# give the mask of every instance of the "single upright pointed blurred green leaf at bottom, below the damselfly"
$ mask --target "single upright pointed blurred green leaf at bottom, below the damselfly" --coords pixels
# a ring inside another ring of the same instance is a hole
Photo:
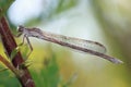
[[[47,61],[47,60],[46,60]],[[59,84],[59,67],[56,61],[55,54],[46,64],[46,69],[41,71],[43,77],[45,78],[44,87],[58,87]]]

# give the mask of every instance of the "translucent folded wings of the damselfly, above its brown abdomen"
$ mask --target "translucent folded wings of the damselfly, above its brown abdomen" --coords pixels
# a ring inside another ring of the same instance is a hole
[[[69,46],[75,46],[81,49],[88,49],[96,52],[106,53],[105,46],[96,41],[84,40],[84,39],[67,37],[63,35],[56,35],[56,34],[49,34],[49,33],[44,33],[43,35],[45,36],[44,39],[47,39],[47,40],[51,39],[53,40],[53,42],[62,42],[63,44],[62,46],[66,46],[66,47],[68,47],[69,45]],[[72,48],[72,49],[75,49],[75,48]],[[75,50],[82,51],[81,49],[75,49]]]

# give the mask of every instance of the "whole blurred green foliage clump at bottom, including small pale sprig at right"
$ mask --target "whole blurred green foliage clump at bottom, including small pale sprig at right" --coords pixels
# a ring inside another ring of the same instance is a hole
[[[31,65],[31,73],[36,87],[69,87],[76,79],[76,74],[73,74],[68,80],[62,78],[57,58],[53,53],[52,57],[44,59],[43,70],[37,69],[37,66],[33,67]]]

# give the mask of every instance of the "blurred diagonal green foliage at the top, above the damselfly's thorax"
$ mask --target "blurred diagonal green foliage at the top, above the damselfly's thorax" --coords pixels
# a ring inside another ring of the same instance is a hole
[[[45,3],[44,3],[45,4]],[[53,5],[56,4],[56,5]],[[43,10],[38,17],[32,17],[28,20],[25,25],[34,26],[40,24],[43,21],[48,23],[52,21],[56,16],[60,15],[61,13],[71,10],[75,5],[79,4],[79,0],[57,0],[55,3],[53,1],[50,3],[50,8],[47,10]],[[45,5],[44,5],[45,8]]]

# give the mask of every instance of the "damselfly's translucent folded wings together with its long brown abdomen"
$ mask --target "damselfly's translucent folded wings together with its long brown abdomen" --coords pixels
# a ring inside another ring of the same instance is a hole
[[[102,44],[96,41],[67,37],[63,35],[56,35],[56,34],[46,33],[46,32],[43,32],[43,37],[40,38],[55,44],[59,44],[64,47],[69,47],[69,48],[82,51],[82,52],[86,52],[93,55],[104,58],[114,63],[122,63],[122,61],[105,54],[106,48]]]

